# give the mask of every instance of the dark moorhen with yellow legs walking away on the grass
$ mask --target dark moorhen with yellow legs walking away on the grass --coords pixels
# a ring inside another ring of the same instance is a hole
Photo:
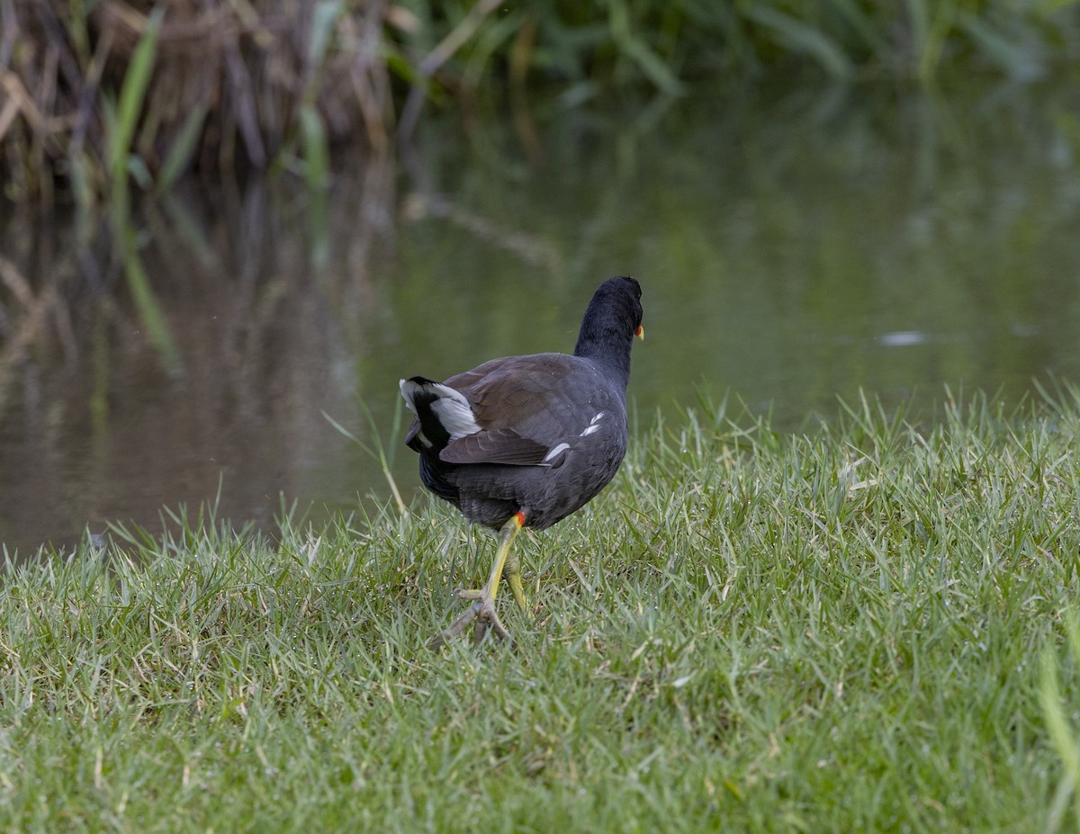
[[[523,527],[542,530],[581,509],[615,477],[626,454],[626,386],[635,337],[644,339],[642,287],[629,275],[599,285],[585,308],[573,354],[492,359],[442,382],[399,384],[414,414],[405,444],[420,455],[420,481],[473,524],[497,530],[487,583],[457,589],[473,603],[429,646],[475,621],[511,641],[496,611],[505,570],[523,613],[521,562],[511,552]]]

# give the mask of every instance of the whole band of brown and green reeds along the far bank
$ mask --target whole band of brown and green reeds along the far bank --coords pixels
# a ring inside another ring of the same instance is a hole
[[[82,205],[193,167],[319,187],[330,146],[382,150],[424,102],[482,92],[576,107],[770,68],[932,84],[1080,56],[1077,0],[0,0],[0,23],[5,194],[49,202],[58,184]]]

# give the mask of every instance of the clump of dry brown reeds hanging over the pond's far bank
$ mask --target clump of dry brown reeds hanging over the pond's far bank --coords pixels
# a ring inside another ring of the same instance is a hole
[[[109,181],[106,96],[119,94],[154,5],[0,0],[0,169],[10,170],[10,196],[42,196],[48,180],[72,166],[90,165],[91,183]],[[127,149],[149,172],[183,140],[190,113],[203,110],[190,160],[203,170],[266,167],[293,152],[307,104],[329,142],[384,145],[392,106],[381,1],[348,6],[319,55],[309,54],[314,3],[174,0],[163,8]]]

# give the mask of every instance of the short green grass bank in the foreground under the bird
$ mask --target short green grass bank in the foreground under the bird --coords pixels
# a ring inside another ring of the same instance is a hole
[[[1078,434],[705,403],[524,538],[515,648],[424,648],[492,552],[427,501],[13,566],[0,829],[1075,830]]]

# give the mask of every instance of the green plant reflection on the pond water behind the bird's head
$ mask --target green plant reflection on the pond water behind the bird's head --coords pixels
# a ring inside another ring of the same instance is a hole
[[[1055,127],[1075,105],[1059,93],[697,99],[629,151],[617,122],[572,120],[543,134],[539,171],[459,151],[459,204],[551,254],[525,264],[444,218],[404,228],[400,349],[437,376],[565,348],[596,281],[632,272],[648,407],[698,382],[788,425],[860,387],[1018,395],[1077,369],[1080,145]]]

